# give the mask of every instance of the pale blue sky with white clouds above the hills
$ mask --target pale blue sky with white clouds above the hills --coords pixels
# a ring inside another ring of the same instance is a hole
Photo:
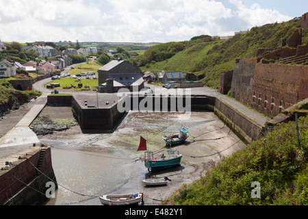
[[[179,42],[307,12],[307,0],[0,0],[0,40]]]

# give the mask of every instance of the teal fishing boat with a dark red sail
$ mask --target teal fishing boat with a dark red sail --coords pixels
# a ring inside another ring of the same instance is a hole
[[[146,140],[140,136],[138,151],[146,150]],[[183,155],[179,154],[179,151],[167,150],[166,152],[166,155],[162,154],[158,158],[154,157],[153,151],[144,152],[144,157],[141,157],[141,159],[144,161],[144,166],[148,168],[149,172],[181,166],[181,158]]]

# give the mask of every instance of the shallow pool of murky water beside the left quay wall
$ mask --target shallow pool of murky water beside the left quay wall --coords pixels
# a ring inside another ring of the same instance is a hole
[[[101,205],[98,196],[116,192],[136,170],[136,162],[123,152],[98,153],[67,142],[47,143],[53,145],[51,157],[58,190],[46,205]]]

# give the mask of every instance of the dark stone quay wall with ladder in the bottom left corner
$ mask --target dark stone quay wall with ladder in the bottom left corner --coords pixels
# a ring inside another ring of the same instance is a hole
[[[41,149],[46,149],[46,151],[40,171],[47,177],[38,172],[40,175],[38,179],[34,166],[38,166]],[[42,148],[40,145],[29,146],[28,148],[18,150],[10,155],[2,157],[1,161],[8,161],[13,164],[9,170],[0,170],[1,205],[10,205],[10,203],[13,205],[35,205],[42,203],[42,201],[46,199],[46,196],[42,194],[47,190],[47,187],[45,187],[47,181],[51,181],[51,179],[56,181],[51,162],[51,149],[49,146],[44,146]],[[40,181],[39,183],[38,180]],[[27,187],[25,183],[31,186],[31,188]],[[42,192],[42,194],[36,190]],[[8,198],[12,199],[9,200]]]

